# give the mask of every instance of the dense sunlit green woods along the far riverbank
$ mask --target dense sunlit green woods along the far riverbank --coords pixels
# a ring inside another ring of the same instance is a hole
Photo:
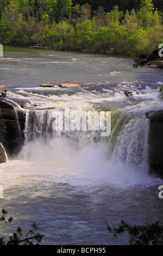
[[[161,0],[0,0],[0,42],[148,58],[163,42]]]

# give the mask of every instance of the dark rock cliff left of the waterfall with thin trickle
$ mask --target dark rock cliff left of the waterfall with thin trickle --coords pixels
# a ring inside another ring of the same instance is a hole
[[[25,122],[25,112],[7,100],[0,101],[0,143],[9,157],[16,155],[22,147]]]

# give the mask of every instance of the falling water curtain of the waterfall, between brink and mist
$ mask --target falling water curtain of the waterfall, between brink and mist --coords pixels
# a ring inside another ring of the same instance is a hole
[[[53,112],[51,110],[27,110],[25,138],[26,143],[37,139],[66,137],[76,141],[79,148],[101,142],[108,144],[108,158],[123,162],[127,166],[148,173],[148,120],[140,112],[115,111],[112,114],[112,132],[110,137],[101,137],[96,131],[53,130]]]

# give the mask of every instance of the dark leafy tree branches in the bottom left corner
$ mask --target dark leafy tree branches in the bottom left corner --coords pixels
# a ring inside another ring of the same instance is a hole
[[[0,217],[1,225],[12,222],[13,218],[7,218],[7,214],[8,212],[5,209],[2,209],[2,215]],[[32,224],[31,229],[23,237],[22,229],[18,227],[12,235],[9,235],[7,241],[1,236],[0,245],[39,245],[43,235],[37,232],[38,229],[39,228],[35,223]]]

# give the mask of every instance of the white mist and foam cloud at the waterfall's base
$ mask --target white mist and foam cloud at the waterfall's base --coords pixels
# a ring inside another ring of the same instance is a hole
[[[127,189],[160,184],[161,181],[154,176],[109,159],[107,152],[106,144],[90,144],[79,149],[76,143],[65,138],[55,138],[48,143],[30,142],[23,148],[20,160],[2,165],[2,185],[27,186],[32,182],[35,190],[37,182],[47,186],[48,182],[61,182],[91,190],[101,185]]]

